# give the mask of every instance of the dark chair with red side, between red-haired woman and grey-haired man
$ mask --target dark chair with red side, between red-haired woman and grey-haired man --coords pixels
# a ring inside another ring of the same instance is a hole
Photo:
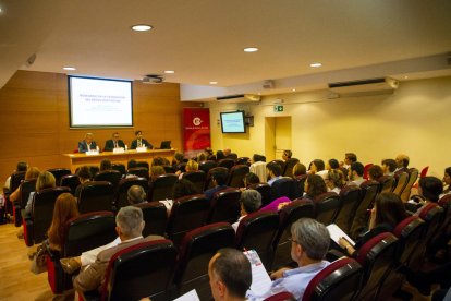
[[[60,258],[80,256],[83,252],[110,243],[118,237],[114,228],[111,212],[88,213],[66,221],[61,251],[49,250],[47,260],[47,278],[53,293],[72,288],[72,275],[63,272]]]

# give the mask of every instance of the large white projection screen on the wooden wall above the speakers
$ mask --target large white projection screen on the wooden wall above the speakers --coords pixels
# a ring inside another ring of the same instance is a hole
[[[69,76],[71,128],[133,127],[133,83],[126,80]]]

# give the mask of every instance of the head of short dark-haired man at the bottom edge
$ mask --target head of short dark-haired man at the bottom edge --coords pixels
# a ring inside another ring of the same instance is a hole
[[[239,250],[221,249],[208,263],[208,277],[215,301],[246,300],[252,284],[251,263]]]

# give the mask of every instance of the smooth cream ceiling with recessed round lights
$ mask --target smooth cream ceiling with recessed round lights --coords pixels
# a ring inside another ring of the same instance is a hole
[[[174,70],[167,82],[197,89],[217,81],[203,96],[257,93],[264,80],[300,91],[451,74],[443,57],[442,65],[430,59],[451,51],[450,0],[0,0],[0,87],[17,69],[65,65],[135,80]],[[131,31],[139,23],[154,29]],[[260,50],[243,52],[249,46]],[[324,65],[309,67],[317,61]]]

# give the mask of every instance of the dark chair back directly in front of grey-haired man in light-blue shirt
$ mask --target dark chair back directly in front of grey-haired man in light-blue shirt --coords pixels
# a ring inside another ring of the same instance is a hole
[[[291,258],[291,225],[302,217],[315,217],[315,206],[310,200],[298,198],[279,210],[279,229],[272,242],[272,270],[288,266]]]

